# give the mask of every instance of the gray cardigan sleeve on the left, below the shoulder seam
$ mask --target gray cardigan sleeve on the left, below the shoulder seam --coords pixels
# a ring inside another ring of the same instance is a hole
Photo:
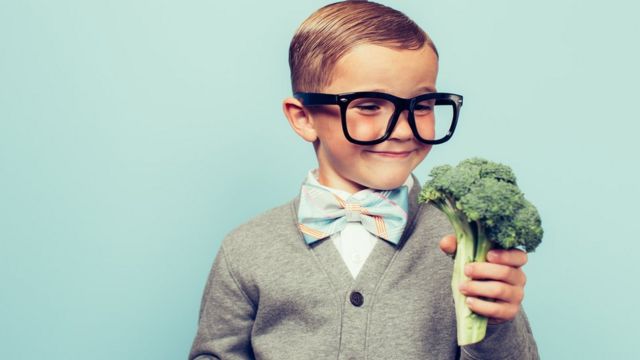
[[[202,295],[198,331],[189,360],[253,359],[256,307],[236,280],[220,247]]]

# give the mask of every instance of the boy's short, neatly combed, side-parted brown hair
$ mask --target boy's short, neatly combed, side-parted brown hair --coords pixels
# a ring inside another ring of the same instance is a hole
[[[342,1],[311,14],[289,45],[293,92],[328,86],[340,58],[361,44],[417,50],[424,44],[438,55],[426,32],[404,13],[371,1]]]

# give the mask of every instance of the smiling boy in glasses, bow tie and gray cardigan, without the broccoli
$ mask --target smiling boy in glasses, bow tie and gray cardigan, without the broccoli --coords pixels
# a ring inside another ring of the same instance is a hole
[[[457,346],[452,263],[437,251],[455,238],[417,204],[411,172],[451,136],[462,97],[436,92],[426,33],[380,4],[330,4],[297,30],[289,63],[283,110],[318,168],[291,203],[225,238],[189,358],[538,358],[517,250],[466,269],[460,291],[490,325]]]

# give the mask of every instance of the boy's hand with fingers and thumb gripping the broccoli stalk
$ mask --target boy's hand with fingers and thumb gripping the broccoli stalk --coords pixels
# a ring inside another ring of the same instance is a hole
[[[440,240],[440,249],[447,254],[455,253],[456,237],[445,236]],[[467,296],[467,306],[488,317],[490,324],[515,318],[524,298],[527,280],[521,267],[526,263],[527,253],[522,250],[495,249],[487,254],[486,263],[467,264],[464,272],[471,280],[460,284],[460,292]]]

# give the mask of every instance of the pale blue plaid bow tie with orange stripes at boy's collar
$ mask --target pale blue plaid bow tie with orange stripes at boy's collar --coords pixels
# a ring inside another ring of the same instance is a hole
[[[365,189],[343,200],[307,181],[300,192],[298,226],[307,244],[341,231],[348,222],[360,222],[373,235],[397,245],[407,223],[408,198],[407,187],[401,186]]]

